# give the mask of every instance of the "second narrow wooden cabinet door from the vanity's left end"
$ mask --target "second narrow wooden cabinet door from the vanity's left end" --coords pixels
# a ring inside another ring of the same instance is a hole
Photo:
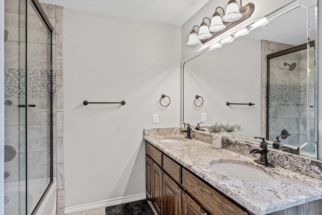
[[[152,165],[152,199],[153,205],[158,212],[162,214],[162,169],[155,163]]]

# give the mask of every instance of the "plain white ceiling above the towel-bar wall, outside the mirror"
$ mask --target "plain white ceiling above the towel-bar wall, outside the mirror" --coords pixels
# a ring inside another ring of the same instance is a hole
[[[182,26],[209,0],[40,0],[64,8]]]

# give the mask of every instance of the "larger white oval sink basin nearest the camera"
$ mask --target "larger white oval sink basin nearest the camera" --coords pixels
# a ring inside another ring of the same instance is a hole
[[[238,164],[223,160],[212,161],[209,166],[218,173],[243,181],[265,182],[274,180],[268,173],[251,167],[252,164],[245,162],[245,165],[243,165],[243,163],[240,164],[240,161],[237,162]]]

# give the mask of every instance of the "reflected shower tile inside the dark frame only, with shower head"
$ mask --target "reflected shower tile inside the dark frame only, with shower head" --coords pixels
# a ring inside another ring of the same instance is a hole
[[[306,67],[306,60],[302,61],[300,56],[299,51],[285,54],[270,59],[269,64],[269,140],[274,141],[285,129],[291,135],[286,139],[280,137],[281,142],[297,147],[300,142],[300,130],[306,128],[306,118],[300,118],[306,116],[306,85],[300,85],[303,81],[306,84],[306,76],[304,74],[303,77],[300,71],[303,64],[304,68]],[[295,69],[290,71],[288,65],[284,66],[284,62],[296,63]]]

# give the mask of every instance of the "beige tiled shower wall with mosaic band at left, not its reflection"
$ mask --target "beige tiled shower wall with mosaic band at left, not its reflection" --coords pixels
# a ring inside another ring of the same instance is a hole
[[[24,55],[20,53],[24,52],[25,49],[25,39],[23,34],[19,34],[19,27],[24,25],[24,15],[25,14],[22,4],[19,3],[18,0],[5,0],[5,26],[6,30],[10,33],[8,40],[5,42],[5,101],[7,102],[5,108],[5,145],[13,146],[16,151],[16,157],[10,161],[5,163],[6,171],[10,172],[10,176],[5,180],[5,182],[24,180],[25,169],[21,168],[25,166],[25,149],[24,145],[18,145],[19,142],[24,142],[24,132],[25,126],[19,126],[19,120],[24,121],[21,117],[23,114],[19,115],[19,109],[17,105],[19,104],[19,99],[24,99],[19,97],[20,93],[24,94],[24,92],[19,92],[17,86],[19,83],[23,83],[24,80],[21,78],[24,77],[25,70],[25,61]],[[42,4],[43,9],[45,10],[51,24],[54,27],[53,32],[53,174],[57,179],[57,214],[64,214],[64,173],[63,173],[63,80],[62,80],[62,16],[63,16],[63,8],[53,5]],[[29,14],[28,14],[29,15]],[[32,17],[29,19],[32,19]],[[38,18],[37,18],[38,19]],[[28,38],[37,39],[37,35],[33,34],[33,32],[29,32]],[[37,43],[37,41],[32,41],[33,48],[31,52],[28,54],[37,55],[39,51],[42,50],[41,44]],[[30,47],[30,46],[29,46]],[[29,49],[30,50],[30,49]],[[20,54],[20,58],[17,58]],[[36,57],[37,58],[37,57]],[[38,62],[35,62],[35,65]],[[29,62],[30,66],[33,66],[33,62]],[[30,103],[36,104],[36,108],[41,108],[42,114],[47,114],[47,95],[43,95],[43,92],[47,91],[46,86],[37,85],[38,81],[43,81],[43,79],[47,79],[47,71],[43,68],[33,67],[35,69],[28,71],[30,79],[29,85],[33,86],[32,91],[29,92]],[[31,81],[32,80],[32,81]],[[21,88],[23,89],[23,88]],[[10,103],[11,102],[11,103]],[[30,125],[30,133],[29,136],[32,138],[35,135],[38,135],[43,129],[47,129],[47,126],[42,126],[41,121],[39,121],[39,117],[32,117],[33,110],[30,109],[29,117],[32,122]],[[38,110],[39,111],[39,110]],[[20,116],[20,118],[19,118]],[[46,118],[46,117],[44,117]],[[34,133],[32,133],[34,132]],[[46,132],[46,131],[45,131]],[[19,136],[17,134],[20,134]],[[44,140],[47,139],[43,138]],[[32,139],[30,139],[32,141]],[[38,160],[36,162],[42,162],[44,165],[42,168],[47,169],[45,167],[47,165],[47,155],[42,155],[41,152],[46,153],[47,146],[42,150],[40,149],[42,145],[41,142],[34,144],[28,148],[28,152],[32,151],[34,153],[33,156],[38,156]],[[46,153],[47,154],[47,153]],[[44,159],[42,159],[44,158]],[[20,162],[19,162],[20,161]],[[28,164],[28,166],[32,166],[32,164]],[[36,165],[35,165],[36,166]],[[39,166],[39,165],[37,165]],[[19,167],[19,168],[17,168]],[[34,169],[32,171],[28,170],[29,178],[42,178],[47,177],[47,175],[43,175],[44,171],[40,169]]]

